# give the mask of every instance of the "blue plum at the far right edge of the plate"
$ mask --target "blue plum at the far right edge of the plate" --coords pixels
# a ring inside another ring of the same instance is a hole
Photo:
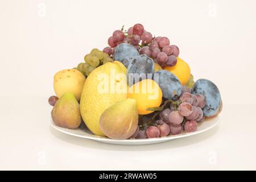
[[[203,107],[205,117],[212,117],[218,113],[221,106],[220,90],[210,80],[199,79],[192,88],[192,94],[202,94],[205,97],[206,104]]]

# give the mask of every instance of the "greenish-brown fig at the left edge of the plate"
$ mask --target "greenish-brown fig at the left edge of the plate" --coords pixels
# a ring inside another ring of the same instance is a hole
[[[51,114],[55,125],[67,129],[76,129],[82,121],[79,102],[71,92],[67,92],[60,97]]]

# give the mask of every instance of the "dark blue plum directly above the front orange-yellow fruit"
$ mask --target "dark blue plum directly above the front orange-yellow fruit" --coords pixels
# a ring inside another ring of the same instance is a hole
[[[154,61],[147,55],[139,55],[131,61],[127,68],[127,81],[129,86],[146,78],[152,79],[155,71]]]

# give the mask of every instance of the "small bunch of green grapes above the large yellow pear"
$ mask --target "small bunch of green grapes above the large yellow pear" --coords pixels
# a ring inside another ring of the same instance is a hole
[[[89,74],[100,65],[114,61],[109,57],[108,53],[100,51],[97,48],[92,49],[88,55],[85,55],[84,60],[85,63],[80,63],[75,69],[85,76],[89,76]]]

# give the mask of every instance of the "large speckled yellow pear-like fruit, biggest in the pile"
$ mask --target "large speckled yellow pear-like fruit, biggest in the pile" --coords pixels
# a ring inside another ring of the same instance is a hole
[[[93,134],[105,136],[100,129],[101,114],[127,97],[126,68],[119,61],[97,67],[86,78],[80,100],[85,125]]]

